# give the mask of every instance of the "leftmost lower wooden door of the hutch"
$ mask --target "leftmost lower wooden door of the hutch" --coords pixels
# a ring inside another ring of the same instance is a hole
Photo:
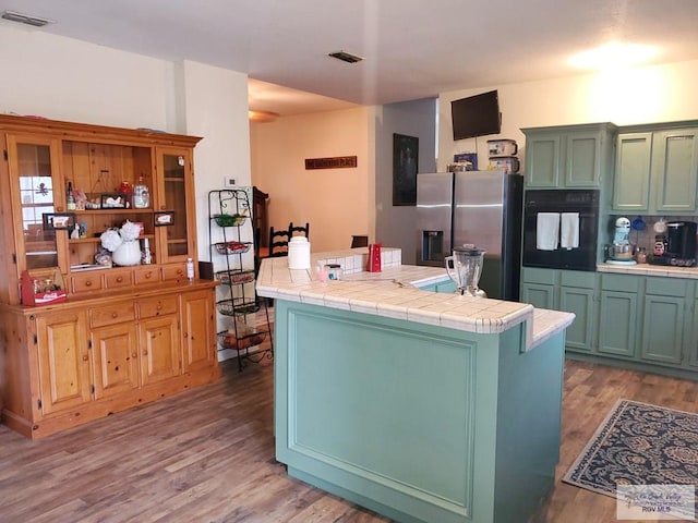
[[[35,321],[44,414],[74,409],[91,401],[85,313],[37,314]]]

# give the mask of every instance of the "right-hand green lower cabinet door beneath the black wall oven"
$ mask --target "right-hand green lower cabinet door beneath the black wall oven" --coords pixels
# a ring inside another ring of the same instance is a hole
[[[594,349],[597,332],[597,306],[593,289],[562,287],[559,309],[575,314],[575,320],[567,328],[565,348],[580,352]]]

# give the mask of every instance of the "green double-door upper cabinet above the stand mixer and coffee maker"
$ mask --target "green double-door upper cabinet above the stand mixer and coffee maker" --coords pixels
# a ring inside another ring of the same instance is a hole
[[[695,122],[693,122],[695,123]],[[617,138],[613,210],[695,212],[698,126],[623,132]]]

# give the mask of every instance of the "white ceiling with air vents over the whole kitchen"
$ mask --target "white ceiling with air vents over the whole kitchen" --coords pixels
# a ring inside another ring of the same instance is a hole
[[[655,63],[698,59],[698,0],[0,0],[4,10],[56,21],[33,31],[248,73],[260,81],[251,108],[281,114],[567,76],[579,72],[571,54],[611,41],[658,46]],[[327,57],[338,50],[365,60]]]

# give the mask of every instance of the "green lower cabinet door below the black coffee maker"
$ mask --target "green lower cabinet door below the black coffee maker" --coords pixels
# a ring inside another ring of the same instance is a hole
[[[678,365],[684,344],[685,299],[645,296],[640,360]]]

